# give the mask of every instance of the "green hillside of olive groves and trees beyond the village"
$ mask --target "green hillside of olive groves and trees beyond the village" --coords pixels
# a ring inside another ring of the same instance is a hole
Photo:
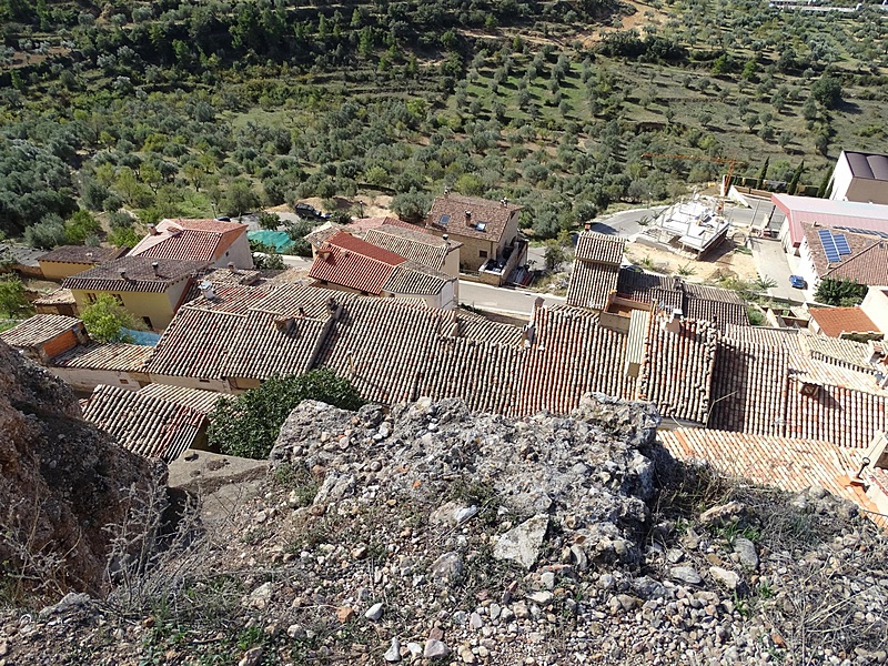
[[[885,12],[749,0],[297,3],[6,0],[2,231],[78,205],[99,238],[160,216],[445,185],[529,204],[537,236],[738,176],[815,193],[888,150]],[[627,29],[628,28],[628,29]],[[700,37],[704,36],[704,37]],[[14,174],[14,176],[13,176]],[[82,235],[82,234],[81,234]]]

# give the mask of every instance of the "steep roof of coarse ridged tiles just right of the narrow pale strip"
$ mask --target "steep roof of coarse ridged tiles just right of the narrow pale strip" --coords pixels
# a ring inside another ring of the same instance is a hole
[[[656,404],[664,418],[705,424],[718,330],[705,321],[668,320],[650,316],[637,398]]]

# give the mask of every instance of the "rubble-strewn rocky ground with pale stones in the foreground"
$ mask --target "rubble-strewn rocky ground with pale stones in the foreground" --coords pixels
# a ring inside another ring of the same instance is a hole
[[[657,423],[303,403],[225,522],[107,599],[7,613],[0,666],[885,663],[875,526],[678,465]]]

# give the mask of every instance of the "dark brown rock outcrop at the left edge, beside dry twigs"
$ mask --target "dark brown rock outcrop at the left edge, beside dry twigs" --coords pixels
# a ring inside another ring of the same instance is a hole
[[[70,387],[0,342],[0,575],[19,592],[101,592],[107,526],[158,477],[80,418]]]

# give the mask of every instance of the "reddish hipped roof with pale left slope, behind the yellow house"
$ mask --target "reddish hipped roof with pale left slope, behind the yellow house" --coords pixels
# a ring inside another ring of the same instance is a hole
[[[131,256],[212,263],[246,233],[246,224],[221,220],[162,220],[139,241]]]

